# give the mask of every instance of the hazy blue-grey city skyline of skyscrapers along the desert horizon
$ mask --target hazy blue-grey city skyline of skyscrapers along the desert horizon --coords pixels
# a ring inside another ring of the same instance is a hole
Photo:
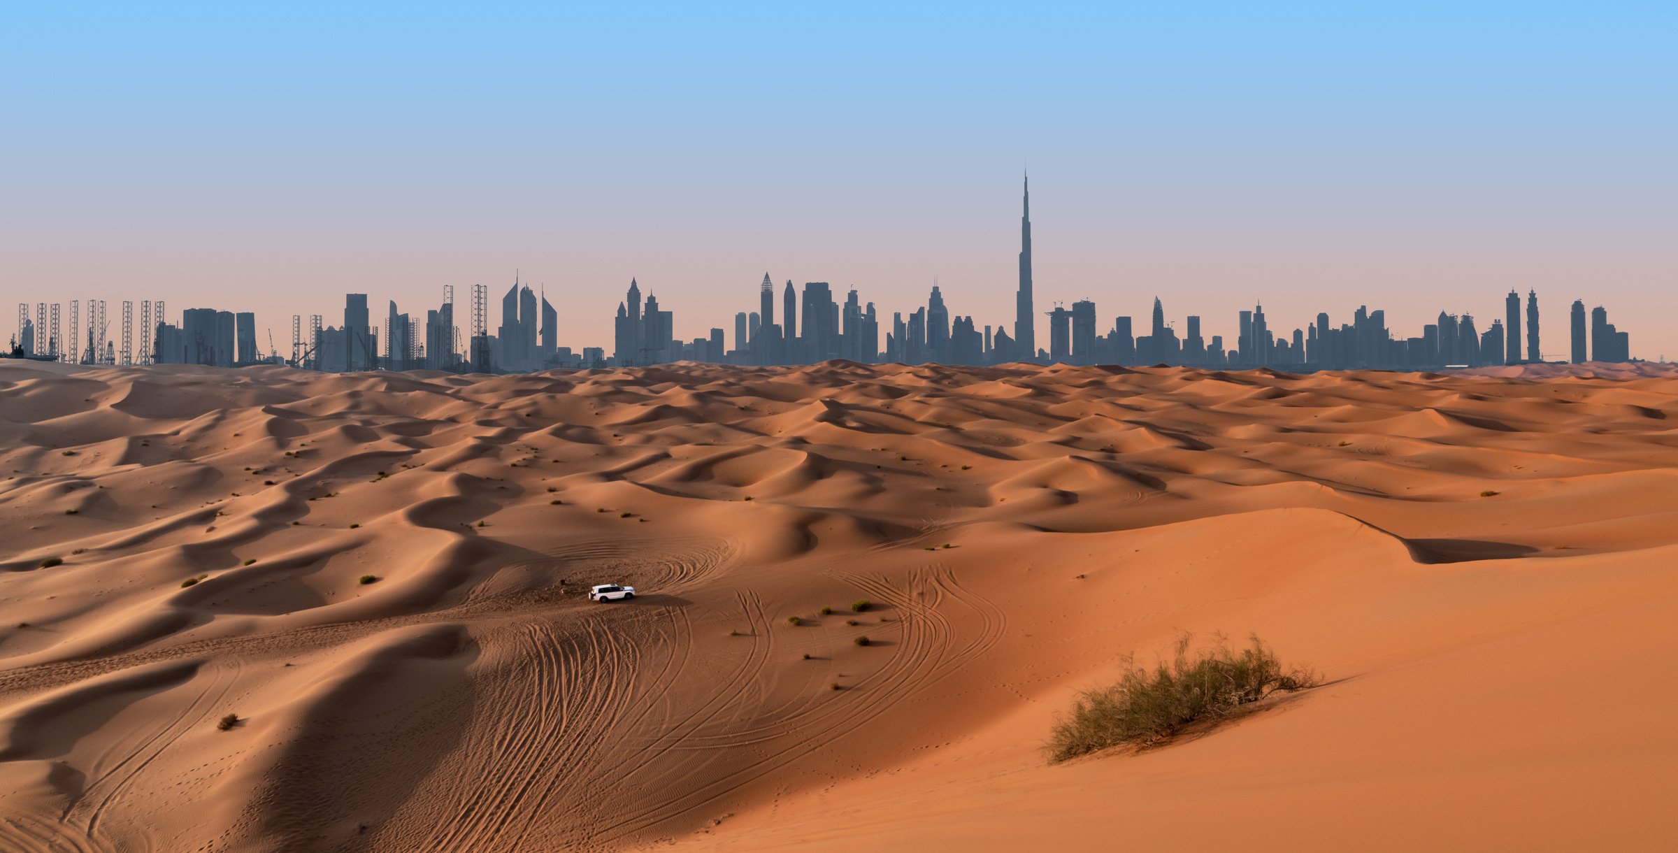
[[[322,326],[320,314],[292,316],[290,351],[280,353],[268,332],[268,351],[257,341],[255,314],[195,307],[171,322],[163,301],[139,302],[134,346],[134,302],[122,302],[117,334],[112,336],[104,301],[70,301],[69,326],[62,326],[59,302],[18,306],[12,353],[37,359],[82,364],[292,364],[317,371],[438,369],[480,373],[522,373],[554,368],[648,366],[671,361],[727,364],[810,364],[827,359],[859,363],[948,363],[1000,364],[1008,361],[1067,364],[1185,364],[1203,368],[1287,368],[1287,369],[1441,369],[1453,366],[1520,364],[1561,361],[1545,354],[1539,338],[1539,296],[1510,290],[1503,316],[1480,327],[1472,314],[1441,311],[1421,334],[1398,338],[1384,311],[1359,306],[1351,322],[1332,322],[1327,312],[1305,327],[1272,331],[1264,306],[1240,311],[1237,334],[1206,338],[1201,317],[1185,317],[1178,332],[1166,319],[1165,304],[1153,301],[1146,329],[1128,316],[1102,322],[1096,302],[1081,299],[1071,307],[1055,302],[1049,317],[1049,348],[1037,346],[1035,289],[1032,280],[1030,183],[1024,185],[1020,212],[1019,289],[1012,332],[1003,326],[980,326],[973,316],[951,314],[943,287],[935,282],[926,304],[911,314],[893,312],[881,334],[874,302],[862,302],[857,290],[837,301],[827,282],[787,280],[780,289],[765,272],[757,311],[735,314],[733,346],[725,331],[678,339],[671,309],[629,280],[618,304],[612,349],[559,346],[559,312],[513,275],[502,297],[500,326],[490,334],[488,289],[472,285],[470,326],[465,339],[455,316],[455,289],[443,289],[441,304],[426,309],[425,321],[398,311],[389,302],[383,329],[373,322],[367,294],[346,294],[339,326]],[[86,311],[84,311],[86,309]],[[1574,301],[1566,359],[1631,361],[1626,332],[1608,321],[1601,306],[1586,312]],[[1146,334],[1138,334],[1146,331]],[[383,341],[383,346],[381,346]]]

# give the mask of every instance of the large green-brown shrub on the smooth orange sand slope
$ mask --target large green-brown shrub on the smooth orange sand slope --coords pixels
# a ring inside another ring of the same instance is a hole
[[[1126,660],[1111,687],[1086,690],[1072,712],[1049,737],[1049,761],[1066,761],[1119,744],[1148,746],[1171,737],[1196,720],[1227,719],[1242,705],[1275,690],[1316,687],[1316,673],[1285,670],[1258,636],[1230,652],[1222,640],[1190,652],[1190,638],[1176,643],[1171,660],[1153,668]]]

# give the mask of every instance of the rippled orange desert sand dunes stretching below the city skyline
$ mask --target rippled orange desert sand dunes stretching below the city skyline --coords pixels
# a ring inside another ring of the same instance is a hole
[[[1671,366],[7,361],[0,433],[0,850],[1678,846]],[[1324,683],[1047,764],[1185,633]]]

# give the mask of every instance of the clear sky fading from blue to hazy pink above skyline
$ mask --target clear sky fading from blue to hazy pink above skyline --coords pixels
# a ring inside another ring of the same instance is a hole
[[[1037,309],[1101,331],[1532,289],[1549,356],[1584,299],[1678,359],[1675,40],[1670,2],[0,3],[0,301],[285,353],[344,292],[487,284],[493,329],[517,274],[611,349],[634,277],[732,346],[769,272],[1005,326],[1029,170]]]

